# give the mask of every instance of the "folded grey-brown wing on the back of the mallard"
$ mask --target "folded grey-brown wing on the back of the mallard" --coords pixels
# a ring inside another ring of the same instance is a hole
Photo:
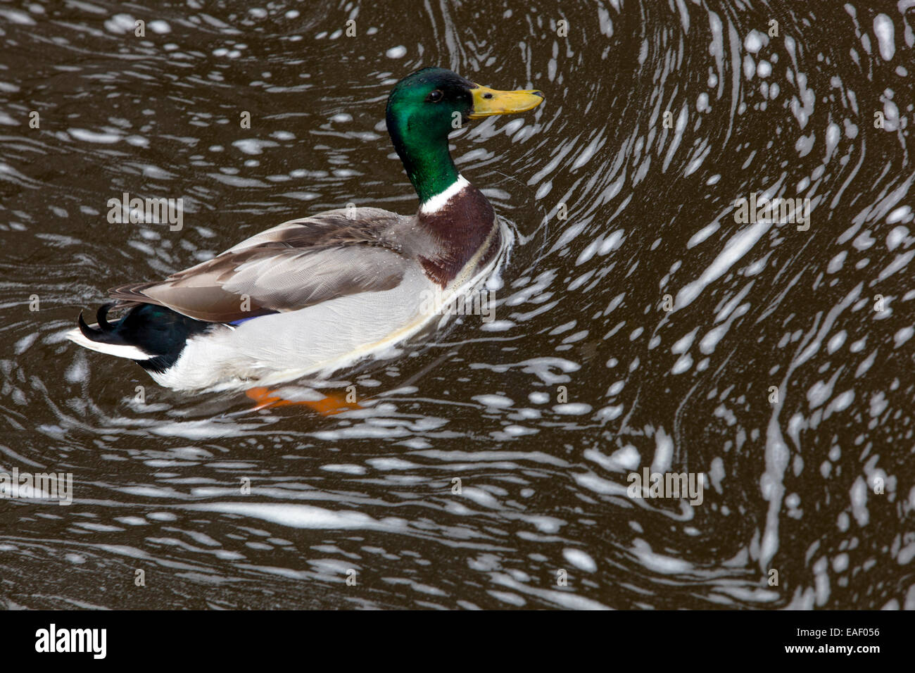
[[[407,219],[377,208],[322,212],[258,233],[160,282],[126,285],[110,294],[196,320],[231,322],[391,289],[410,261],[386,243],[387,234]]]

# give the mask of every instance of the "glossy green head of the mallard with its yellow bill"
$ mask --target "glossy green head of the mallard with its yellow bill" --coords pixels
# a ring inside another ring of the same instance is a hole
[[[539,91],[498,91],[444,68],[423,68],[388,96],[387,126],[420,201],[458,180],[447,137],[470,119],[526,112],[544,102]]]

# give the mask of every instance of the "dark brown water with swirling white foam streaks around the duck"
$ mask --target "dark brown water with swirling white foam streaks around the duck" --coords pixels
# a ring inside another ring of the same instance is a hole
[[[0,502],[0,599],[915,607],[913,27],[910,0],[0,4],[0,472],[73,475],[70,506]],[[327,418],[63,341],[275,223],[413,212],[383,109],[424,65],[546,94],[454,140],[516,234],[495,322]],[[108,223],[124,191],[184,228]],[[735,222],[763,193],[809,230]],[[645,467],[705,473],[702,504],[630,498]]]

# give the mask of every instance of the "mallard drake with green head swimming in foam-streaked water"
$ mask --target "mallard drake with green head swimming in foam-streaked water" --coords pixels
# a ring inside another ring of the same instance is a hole
[[[350,204],[278,224],[162,280],[109,290],[95,322],[81,312],[67,337],[180,391],[326,377],[384,353],[490,277],[507,239],[455,167],[449,134],[543,102],[536,90],[414,71],[393,86],[385,113],[419,199],[414,215]]]

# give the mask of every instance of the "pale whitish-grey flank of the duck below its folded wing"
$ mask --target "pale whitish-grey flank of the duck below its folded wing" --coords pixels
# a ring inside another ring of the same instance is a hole
[[[479,255],[468,262],[447,288],[438,288],[418,267],[395,288],[361,292],[323,301],[305,309],[261,316],[234,329],[220,326],[188,339],[166,372],[149,372],[159,385],[174,390],[238,390],[279,385],[308,376],[312,383],[356,364],[363,357],[399,356],[400,343],[434,321],[456,296],[483,282],[504,261],[511,230],[500,224],[503,248],[474,273]],[[496,235],[495,232],[490,235]],[[485,247],[485,245],[483,246]],[[425,307],[425,297],[436,305]],[[383,315],[384,320],[365,320]]]

